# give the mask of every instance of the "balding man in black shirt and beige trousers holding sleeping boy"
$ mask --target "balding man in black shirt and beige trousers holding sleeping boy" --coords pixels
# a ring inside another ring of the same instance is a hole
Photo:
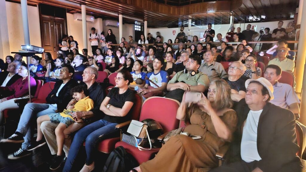
[[[102,112],[100,111],[100,105],[104,99],[104,90],[101,85],[95,82],[98,77],[98,70],[94,67],[87,67],[83,72],[83,82],[86,84],[88,89],[89,97],[94,101],[94,108],[90,111],[84,112],[74,112],[72,117],[77,119],[77,122],[69,125],[67,129],[64,130],[65,133],[65,141],[64,141],[64,152],[66,156],[68,156],[68,152],[70,149],[72,138],[70,136],[71,133],[81,129],[83,126],[87,125],[90,122],[94,122],[97,119],[102,118]],[[69,105],[73,105],[76,103],[75,99],[72,99]],[[40,129],[43,132],[43,135],[46,138],[47,144],[50,148],[51,154],[55,156],[54,159],[54,168],[60,166],[64,157],[57,156],[57,143],[55,136],[55,128],[58,124],[54,124],[50,121],[45,121],[41,124]]]

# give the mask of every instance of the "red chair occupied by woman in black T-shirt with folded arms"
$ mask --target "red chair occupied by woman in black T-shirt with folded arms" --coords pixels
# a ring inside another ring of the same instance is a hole
[[[132,118],[134,120],[139,120],[139,116],[140,116],[140,110],[141,110],[141,105],[142,105],[142,96],[139,94],[135,94],[136,95],[136,103],[133,106],[133,111],[132,111]],[[121,127],[127,126],[129,125],[131,121],[128,122],[124,122],[122,124],[118,124],[121,125]],[[118,127],[118,128],[121,128]],[[114,138],[110,138],[110,139],[104,139],[102,140],[97,148],[98,151],[103,152],[103,153],[110,153],[111,151],[113,151],[115,149],[115,144],[120,141],[120,136],[118,135],[118,137],[114,137]],[[85,143],[84,143],[85,144]]]

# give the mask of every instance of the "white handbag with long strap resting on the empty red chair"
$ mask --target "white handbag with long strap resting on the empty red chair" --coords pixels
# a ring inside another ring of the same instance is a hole
[[[151,150],[152,149],[152,144],[151,144],[151,140],[150,140],[150,136],[149,136],[147,127],[148,126],[145,123],[143,123],[143,122],[132,120],[132,122],[130,123],[129,128],[127,130],[127,132],[132,134],[132,136],[136,140],[136,144],[138,145],[137,148],[140,151]],[[140,138],[140,139],[148,138],[149,144],[150,144],[150,148],[143,148],[142,146],[140,146],[141,142],[139,142],[136,137]]]

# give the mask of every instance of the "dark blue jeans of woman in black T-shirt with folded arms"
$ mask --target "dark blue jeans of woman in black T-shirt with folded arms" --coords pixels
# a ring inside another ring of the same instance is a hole
[[[111,123],[101,119],[80,129],[73,138],[63,171],[71,170],[84,141],[87,155],[86,164],[90,165],[93,162],[94,154],[97,151],[96,144],[105,136],[116,132],[116,125],[117,123]]]

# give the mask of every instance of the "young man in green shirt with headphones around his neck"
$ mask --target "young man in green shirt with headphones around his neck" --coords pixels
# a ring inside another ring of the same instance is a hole
[[[201,65],[199,56],[190,55],[185,69],[178,72],[168,82],[167,98],[176,99],[181,102],[185,91],[205,92],[209,86],[209,79],[206,74],[199,72]]]

